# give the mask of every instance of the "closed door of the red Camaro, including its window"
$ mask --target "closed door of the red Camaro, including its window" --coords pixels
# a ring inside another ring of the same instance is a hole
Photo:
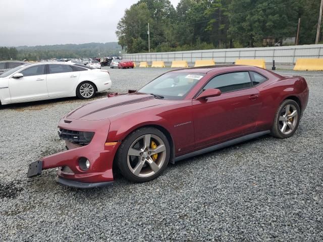
[[[261,102],[259,91],[252,86],[248,72],[215,76],[203,90],[209,88],[220,89],[222,93],[217,97],[192,101],[196,147],[219,143],[255,130]]]

